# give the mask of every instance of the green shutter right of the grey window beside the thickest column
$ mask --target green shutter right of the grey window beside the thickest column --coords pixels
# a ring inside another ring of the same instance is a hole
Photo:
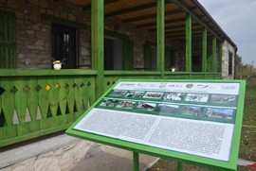
[[[124,70],[134,70],[134,43],[129,38],[123,39]]]

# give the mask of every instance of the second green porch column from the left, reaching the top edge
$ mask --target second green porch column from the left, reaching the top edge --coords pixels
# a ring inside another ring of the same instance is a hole
[[[164,0],[157,0],[157,71],[164,77]]]

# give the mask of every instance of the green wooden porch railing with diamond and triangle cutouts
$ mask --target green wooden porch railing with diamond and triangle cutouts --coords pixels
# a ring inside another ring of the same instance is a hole
[[[160,79],[161,72],[96,70],[0,70],[0,146],[68,128],[119,79]],[[165,72],[165,79],[220,79],[220,73]]]

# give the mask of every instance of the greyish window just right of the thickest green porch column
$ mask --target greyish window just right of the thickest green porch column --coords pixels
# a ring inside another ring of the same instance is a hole
[[[123,69],[123,41],[119,38],[104,38],[104,70]]]

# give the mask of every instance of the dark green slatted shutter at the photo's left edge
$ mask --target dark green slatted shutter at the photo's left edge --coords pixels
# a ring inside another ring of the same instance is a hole
[[[15,13],[0,10],[0,68],[16,68]]]

